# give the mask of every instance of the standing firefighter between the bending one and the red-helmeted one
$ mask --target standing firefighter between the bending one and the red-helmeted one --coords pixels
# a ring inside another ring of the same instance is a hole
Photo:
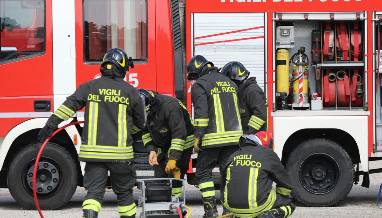
[[[212,62],[196,55],[187,65],[194,105],[195,150],[198,152],[196,182],[202,192],[204,218],[217,217],[212,169],[219,162],[220,171],[228,158],[238,150],[242,135],[238,109],[238,88],[223,76]],[[223,215],[229,213],[223,207]]]

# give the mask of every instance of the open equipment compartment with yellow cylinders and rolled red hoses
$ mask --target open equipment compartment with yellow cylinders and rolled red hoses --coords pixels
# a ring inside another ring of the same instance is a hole
[[[365,109],[366,36],[361,15],[354,15],[354,20],[276,15],[274,110]],[[293,36],[284,36],[293,46],[280,43],[281,29],[293,29]]]

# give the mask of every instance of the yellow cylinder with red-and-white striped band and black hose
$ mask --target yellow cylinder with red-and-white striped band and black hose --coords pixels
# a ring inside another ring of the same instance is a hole
[[[303,67],[303,72],[306,70],[306,67],[307,66],[302,66]],[[302,79],[303,79],[303,93],[302,93],[302,96],[300,96],[300,80],[296,80],[299,76],[299,70],[298,70],[299,66],[296,66],[296,65],[293,65],[292,69],[293,69],[293,73],[292,73],[292,80],[294,81],[293,82],[293,89],[295,89],[293,91],[293,103],[299,103],[299,98],[302,97],[303,98],[303,103],[309,103],[309,95],[308,95],[308,71],[306,71],[304,73],[304,75],[302,76]],[[296,80],[296,81],[295,81]]]

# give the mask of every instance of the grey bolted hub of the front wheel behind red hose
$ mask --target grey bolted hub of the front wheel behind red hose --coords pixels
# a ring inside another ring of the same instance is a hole
[[[29,188],[33,189],[33,169],[34,164],[28,169],[26,173],[26,180]],[[36,174],[36,191],[38,194],[47,194],[57,187],[60,181],[60,174],[55,165],[49,162],[41,161],[37,165]]]

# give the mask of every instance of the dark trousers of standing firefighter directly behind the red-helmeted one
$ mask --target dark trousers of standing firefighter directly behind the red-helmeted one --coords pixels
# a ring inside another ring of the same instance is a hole
[[[216,163],[219,163],[220,172],[223,171],[228,158],[238,149],[238,145],[205,148],[197,154],[195,177],[203,198],[215,196],[212,170],[215,168]],[[220,187],[224,186],[225,184],[220,184]],[[223,190],[220,189],[220,192],[223,192]]]

